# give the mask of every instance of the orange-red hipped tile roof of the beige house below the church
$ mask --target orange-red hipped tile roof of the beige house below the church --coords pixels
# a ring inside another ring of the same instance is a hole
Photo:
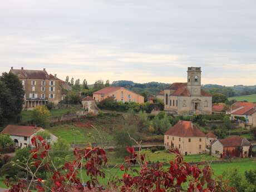
[[[179,137],[205,137],[205,134],[191,121],[179,121],[166,131],[165,135]]]

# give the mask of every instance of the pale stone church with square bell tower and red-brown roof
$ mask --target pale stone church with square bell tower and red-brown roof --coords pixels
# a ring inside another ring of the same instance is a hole
[[[212,97],[201,88],[201,67],[188,67],[186,83],[164,90],[165,111],[173,115],[211,114]]]

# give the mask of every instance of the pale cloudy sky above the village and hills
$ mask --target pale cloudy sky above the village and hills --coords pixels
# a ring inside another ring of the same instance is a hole
[[[96,80],[256,85],[255,0],[0,2],[0,72]]]

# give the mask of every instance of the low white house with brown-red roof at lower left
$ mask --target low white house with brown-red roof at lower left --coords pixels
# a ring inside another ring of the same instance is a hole
[[[7,125],[1,132],[1,134],[10,135],[14,142],[15,147],[23,148],[31,146],[31,139],[39,131],[45,131],[42,127],[36,126],[21,126],[21,125]],[[56,142],[58,138],[51,134],[51,139],[48,142]]]

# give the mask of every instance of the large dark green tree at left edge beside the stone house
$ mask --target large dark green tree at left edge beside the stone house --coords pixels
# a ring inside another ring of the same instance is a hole
[[[0,125],[20,120],[24,90],[22,82],[13,73],[0,76]]]

